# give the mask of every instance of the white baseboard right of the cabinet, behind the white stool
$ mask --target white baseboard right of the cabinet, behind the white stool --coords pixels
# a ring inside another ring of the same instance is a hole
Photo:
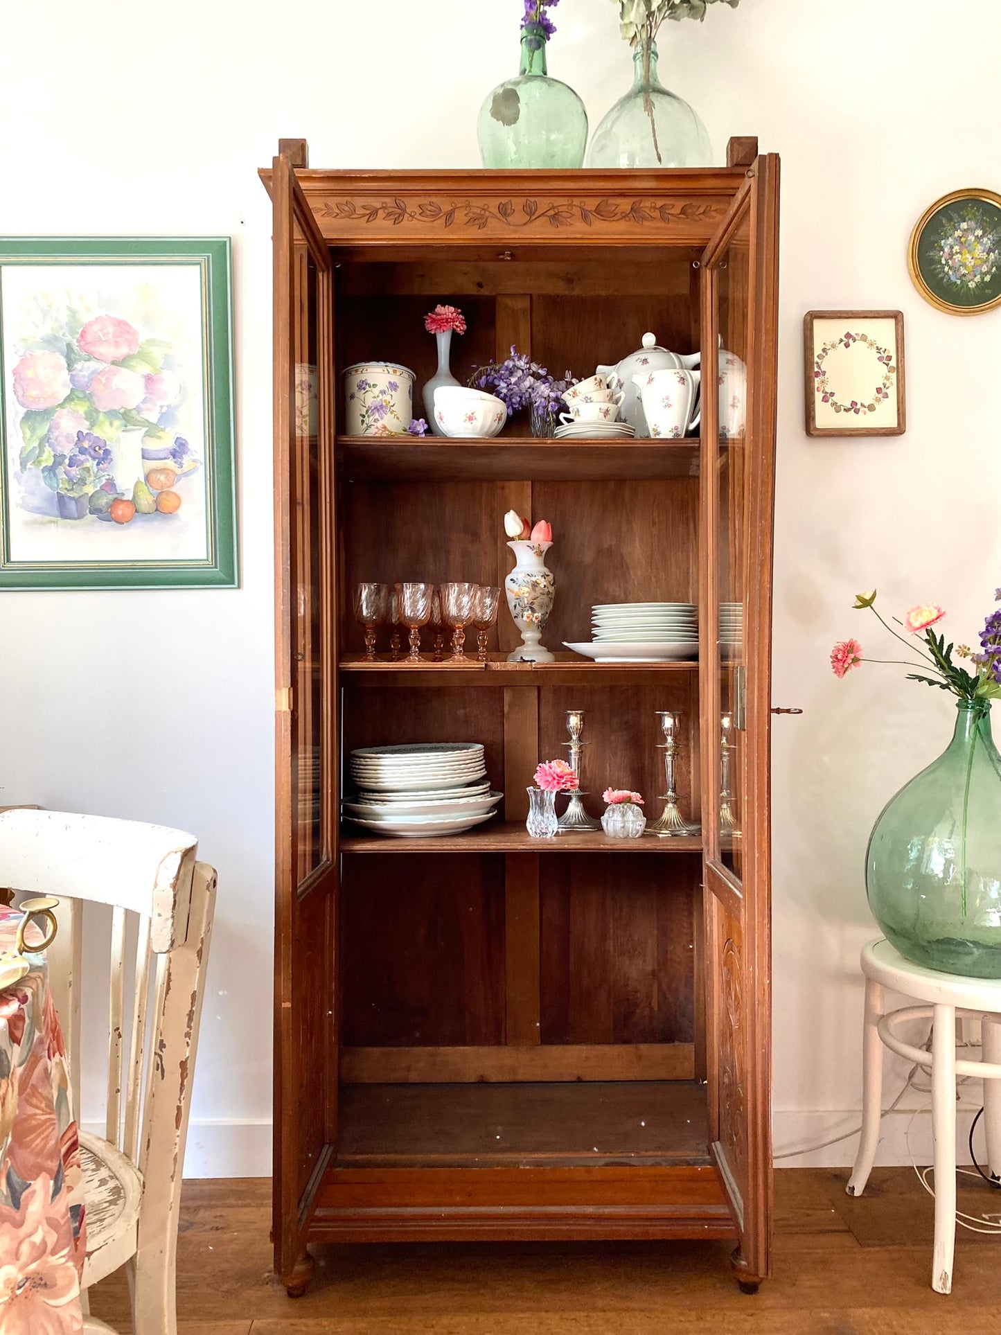
[[[956,1109],[956,1151],[957,1161],[968,1164],[970,1123],[980,1104],[964,1103]],[[914,1109],[920,1108],[917,1116]],[[913,1123],[912,1123],[913,1117]],[[774,1109],[771,1113],[773,1153],[777,1168],[850,1168],[856,1151],[858,1149],[858,1132],[862,1116],[856,1109],[852,1112],[837,1111],[783,1111]],[[908,1148],[908,1125],[910,1124],[910,1148]],[[845,1132],[854,1132],[848,1140],[827,1145],[825,1149],[810,1149],[810,1145],[819,1145],[834,1136]],[[805,1149],[791,1157],[778,1157],[789,1151]],[[974,1140],[977,1157],[984,1163],[984,1131],[977,1127]],[[909,1108],[890,1112],[882,1119],[880,1135],[880,1148],[876,1152],[877,1164],[909,1164],[912,1153],[920,1165],[932,1163],[932,1108],[929,1104],[912,1103]]]

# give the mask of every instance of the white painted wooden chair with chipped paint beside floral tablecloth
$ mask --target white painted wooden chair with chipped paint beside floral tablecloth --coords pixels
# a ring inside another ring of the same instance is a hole
[[[127,1266],[135,1335],[175,1335],[178,1324],[178,1210],[215,908],[215,870],[195,861],[196,848],[192,834],[163,825],[31,809],[0,814],[0,886],[61,901],[49,977],[77,1099],[83,908],[112,908],[105,1136],[80,1133],[83,1287]],[[85,1330],[109,1327],[88,1318]]]

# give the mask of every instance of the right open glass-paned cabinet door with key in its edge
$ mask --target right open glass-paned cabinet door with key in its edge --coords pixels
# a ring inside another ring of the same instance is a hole
[[[713,1153],[749,1280],[770,1246],[771,507],[778,160],[702,256],[699,698]]]

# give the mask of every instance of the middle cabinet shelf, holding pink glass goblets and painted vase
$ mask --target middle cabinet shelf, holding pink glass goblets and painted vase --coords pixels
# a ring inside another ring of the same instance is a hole
[[[663,681],[665,673],[698,673],[691,659],[661,663],[598,663],[578,654],[558,653],[551,663],[509,663],[506,654],[466,663],[370,662],[362,654],[340,659],[340,672],[362,685],[378,686],[645,686]]]

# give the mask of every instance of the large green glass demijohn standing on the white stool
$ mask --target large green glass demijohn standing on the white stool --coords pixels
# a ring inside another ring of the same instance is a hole
[[[905,959],[1001,979],[1001,756],[988,700],[960,701],[946,750],[884,808],[866,890]]]

